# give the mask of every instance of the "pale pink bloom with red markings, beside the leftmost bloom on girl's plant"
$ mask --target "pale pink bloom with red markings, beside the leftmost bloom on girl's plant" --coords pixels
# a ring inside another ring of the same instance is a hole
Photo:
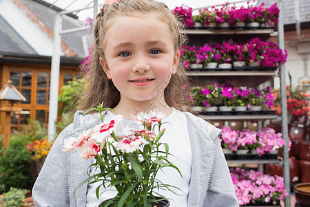
[[[103,143],[101,146],[103,147],[105,144],[105,139],[103,139]],[[95,139],[87,139],[87,141],[84,141],[84,143],[81,146],[81,149],[79,150],[79,156],[83,159],[90,159],[92,157],[95,157],[98,152],[101,150],[101,147],[96,143]]]

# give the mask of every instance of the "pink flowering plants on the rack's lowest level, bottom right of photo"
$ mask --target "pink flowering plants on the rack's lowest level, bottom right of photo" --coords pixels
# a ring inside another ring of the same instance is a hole
[[[269,176],[255,170],[230,169],[240,206],[273,206],[287,197],[283,177]]]

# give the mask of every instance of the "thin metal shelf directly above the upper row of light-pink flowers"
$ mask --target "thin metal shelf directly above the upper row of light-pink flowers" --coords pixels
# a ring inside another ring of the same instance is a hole
[[[198,115],[198,117],[210,121],[258,121],[276,119],[278,115]]]

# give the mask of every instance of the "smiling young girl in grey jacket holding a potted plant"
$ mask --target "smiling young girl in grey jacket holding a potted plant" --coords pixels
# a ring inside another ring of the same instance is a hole
[[[169,144],[172,162],[183,175],[168,169],[158,174],[164,184],[183,190],[178,195],[161,192],[171,199],[170,206],[238,206],[218,141],[220,130],[181,112],[186,105],[181,86],[187,83],[180,61],[183,43],[180,24],[164,3],[120,0],[105,4],[96,17],[83,110],[103,102],[125,117],[124,128],[134,128],[132,115],[138,112],[162,110],[163,122],[169,124],[161,139]],[[104,121],[115,116],[107,110]],[[97,199],[97,186],[85,184],[72,197],[76,186],[87,179],[92,160],[79,158],[76,150],[63,152],[63,140],[78,137],[96,124],[99,119],[94,115],[78,111],[74,122],[61,132],[32,190],[37,206],[98,206],[116,195],[113,188],[102,189]]]

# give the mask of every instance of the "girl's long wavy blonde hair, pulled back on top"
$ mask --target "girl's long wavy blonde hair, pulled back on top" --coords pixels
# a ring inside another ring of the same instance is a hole
[[[111,79],[108,79],[101,68],[99,57],[104,58],[103,47],[105,46],[105,34],[110,26],[110,21],[114,17],[126,16],[132,14],[154,14],[156,18],[167,26],[174,40],[174,50],[180,50],[187,37],[182,33],[183,23],[174,17],[174,14],[167,8],[165,3],[152,0],[120,0],[110,5],[105,4],[101,8],[101,12],[96,16],[96,24],[94,26],[94,46],[90,51],[90,58],[87,63],[82,66],[82,70],[89,69],[85,74],[86,93],[81,100],[81,110],[89,110],[95,108],[99,103],[103,103],[103,107],[114,108],[121,99],[120,92],[115,88]],[[183,61],[180,59],[176,74],[165,88],[164,97],[167,104],[178,110],[184,110],[189,106],[185,98],[184,87],[188,86],[188,78],[185,73]],[[187,90],[187,88],[185,88]]]

